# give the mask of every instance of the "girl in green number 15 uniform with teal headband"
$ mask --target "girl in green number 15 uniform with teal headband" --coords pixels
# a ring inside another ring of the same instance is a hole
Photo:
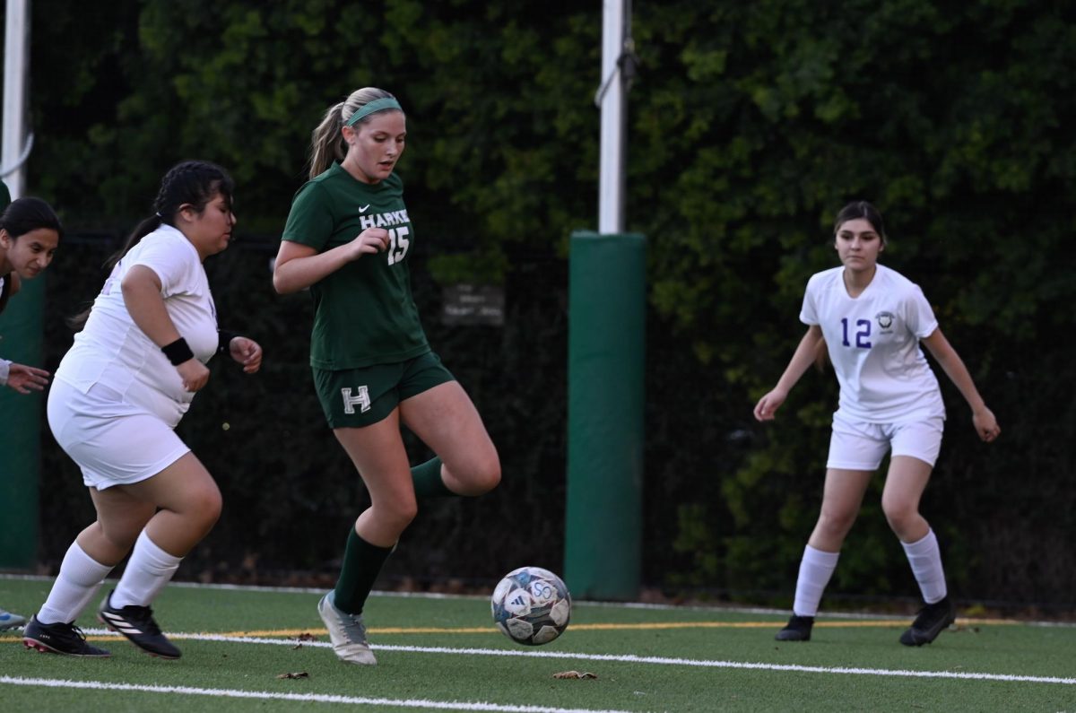
[[[393,170],[407,139],[399,102],[366,87],[329,108],[311,141],[273,269],[281,294],[310,289],[310,364],[332,433],[370,506],[348,536],[336,588],[317,605],[344,661],[376,663],[363,606],[417,502],[480,495],[500,481],[482,419],[426,340],[411,295],[415,234]],[[436,453],[412,469],[400,424]]]

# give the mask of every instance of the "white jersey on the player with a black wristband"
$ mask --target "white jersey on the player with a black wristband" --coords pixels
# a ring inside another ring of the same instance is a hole
[[[127,311],[119,284],[134,265],[157,274],[168,316],[195,356],[202,363],[213,356],[216,308],[206,269],[190,241],[174,227],[161,225],[113,268],[94,300],[86,326],[56,369],[56,379],[82,393],[95,383],[110,387],[124,394],[126,403],[145,408],[174,428],[194,393],[183,388],[179,372]]]

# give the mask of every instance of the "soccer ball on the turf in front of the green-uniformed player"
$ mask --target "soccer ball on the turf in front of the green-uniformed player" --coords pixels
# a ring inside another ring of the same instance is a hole
[[[540,567],[521,567],[505,575],[491,598],[493,620],[512,641],[548,644],[568,628],[571,595],[561,577]]]

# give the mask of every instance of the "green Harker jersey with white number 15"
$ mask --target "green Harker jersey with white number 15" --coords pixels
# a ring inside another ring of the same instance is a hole
[[[325,252],[350,242],[368,227],[388,230],[388,249],[365,254],[310,285],[313,367],[360,368],[429,351],[411,295],[407,257],[414,247],[414,233],[398,176],[363,183],[332,164],[295,194],[283,239]]]

